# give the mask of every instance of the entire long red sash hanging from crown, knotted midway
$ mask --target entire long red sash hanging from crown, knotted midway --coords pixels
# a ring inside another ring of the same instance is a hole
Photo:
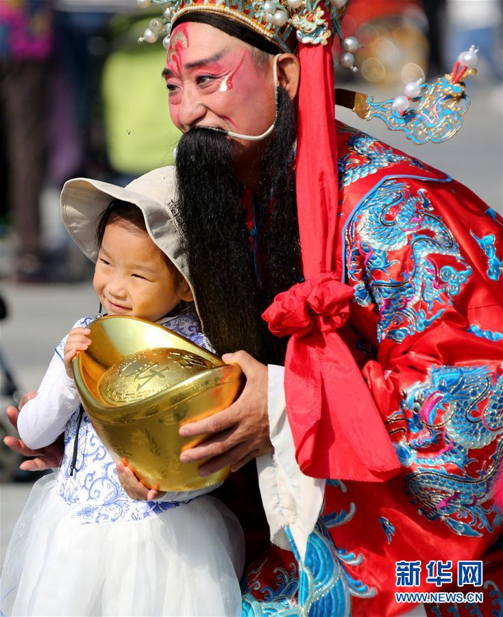
[[[380,413],[336,332],[353,291],[336,261],[339,198],[330,45],[299,45],[297,210],[305,282],[262,315],[290,335],[284,387],[297,462],[310,476],[382,481],[400,468]]]

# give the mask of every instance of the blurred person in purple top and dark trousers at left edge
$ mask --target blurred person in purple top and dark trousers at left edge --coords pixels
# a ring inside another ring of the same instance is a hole
[[[40,192],[47,162],[52,17],[49,0],[1,2],[0,115],[16,234],[15,276],[21,282],[45,280],[49,274],[42,254]]]

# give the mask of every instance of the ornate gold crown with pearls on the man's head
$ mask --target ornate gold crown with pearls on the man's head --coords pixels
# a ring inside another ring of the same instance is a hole
[[[326,45],[332,34],[342,41],[340,21],[349,0],[328,0],[326,11],[321,0],[137,0],[147,8],[162,5],[162,19],[151,19],[140,40],[154,43],[162,33],[169,45],[171,27],[180,16],[191,12],[217,12],[236,19],[278,47],[293,52],[297,40],[311,45]],[[349,50],[347,50],[349,51]],[[350,53],[350,52],[349,52]]]

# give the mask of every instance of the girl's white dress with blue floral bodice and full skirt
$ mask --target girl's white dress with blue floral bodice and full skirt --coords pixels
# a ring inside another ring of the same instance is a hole
[[[209,348],[192,315],[162,325]],[[64,431],[64,457],[57,474],[34,485],[16,524],[1,614],[240,615],[243,532],[219,500],[204,491],[130,499],[86,413],[71,475],[79,399],[63,347],[19,415],[20,435],[32,448]]]

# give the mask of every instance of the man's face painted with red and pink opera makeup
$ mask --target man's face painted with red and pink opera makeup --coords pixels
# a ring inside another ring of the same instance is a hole
[[[164,77],[171,118],[184,132],[208,126],[259,135],[274,120],[270,66],[256,66],[248,45],[210,25],[175,28]]]

